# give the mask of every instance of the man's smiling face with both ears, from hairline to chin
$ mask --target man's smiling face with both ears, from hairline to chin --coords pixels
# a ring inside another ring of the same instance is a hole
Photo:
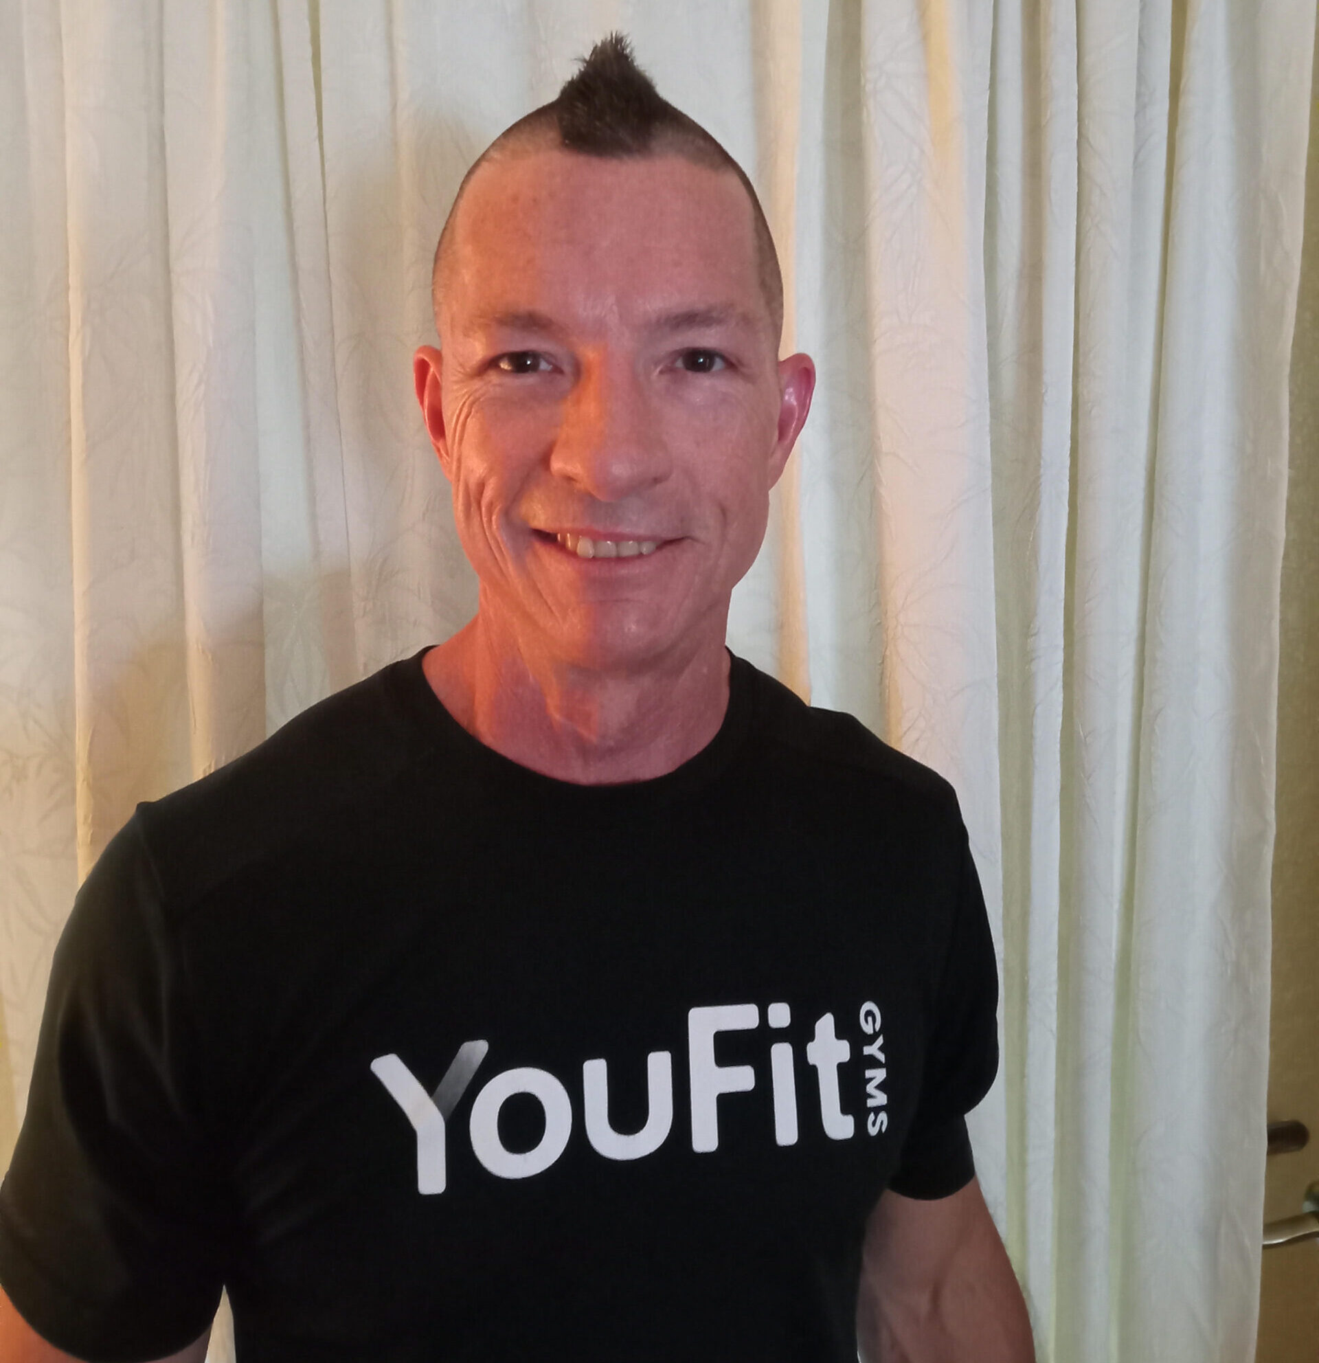
[[[482,616],[593,672],[722,646],[813,384],[778,363],[741,184],[534,151],[482,166],[454,229],[417,387]]]

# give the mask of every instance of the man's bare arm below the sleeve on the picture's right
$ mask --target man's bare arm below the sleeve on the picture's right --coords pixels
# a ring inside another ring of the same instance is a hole
[[[1034,1363],[1026,1303],[972,1179],[884,1193],[865,1227],[857,1341],[867,1363]]]

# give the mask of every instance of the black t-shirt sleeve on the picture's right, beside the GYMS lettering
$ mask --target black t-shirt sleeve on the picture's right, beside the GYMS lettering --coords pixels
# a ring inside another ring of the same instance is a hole
[[[957,901],[939,983],[916,1115],[888,1187],[903,1197],[957,1193],[976,1172],[966,1114],[999,1069],[999,972],[980,878],[961,830]]]

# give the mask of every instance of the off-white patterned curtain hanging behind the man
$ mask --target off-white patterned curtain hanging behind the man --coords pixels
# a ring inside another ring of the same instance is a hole
[[[958,786],[1042,1359],[1243,1363],[1314,0],[3,0],[0,1164],[134,803],[463,623],[458,180],[610,27],[820,391],[733,646]],[[222,1332],[213,1353],[228,1343]]]

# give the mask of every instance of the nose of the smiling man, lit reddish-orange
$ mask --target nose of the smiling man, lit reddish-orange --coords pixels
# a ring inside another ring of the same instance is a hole
[[[597,502],[621,502],[672,472],[651,395],[623,358],[589,357],[563,408],[550,473]]]

